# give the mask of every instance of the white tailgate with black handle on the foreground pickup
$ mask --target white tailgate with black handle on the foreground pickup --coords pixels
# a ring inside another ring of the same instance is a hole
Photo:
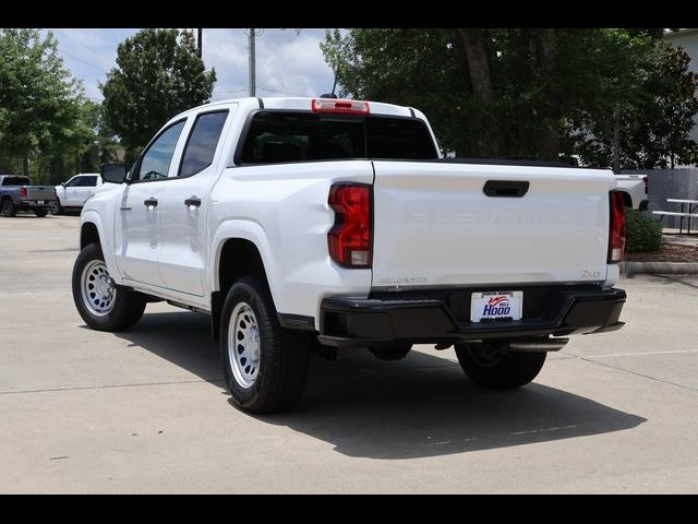
[[[609,170],[373,164],[374,288],[606,277]]]

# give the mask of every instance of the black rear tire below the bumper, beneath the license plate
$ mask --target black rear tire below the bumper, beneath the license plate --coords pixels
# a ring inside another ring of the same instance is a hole
[[[456,344],[456,356],[468,378],[483,388],[510,390],[531,382],[541,371],[546,353],[497,352],[496,348]]]

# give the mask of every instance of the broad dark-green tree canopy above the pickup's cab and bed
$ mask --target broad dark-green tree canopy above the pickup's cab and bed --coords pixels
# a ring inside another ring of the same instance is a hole
[[[571,123],[613,122],[651,96],[658,29],[328,32],[344,94],[419,107],[459,156],[556,159]]]

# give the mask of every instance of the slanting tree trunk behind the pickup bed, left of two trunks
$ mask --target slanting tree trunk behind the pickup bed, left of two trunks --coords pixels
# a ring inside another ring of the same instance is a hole
[[[492,87],[485,33],[481,28],[458,28],[456,31],[466,51],[472,94],[481,104],[478,122],[480,124],[478,153],[483,157],[497,157],[501,154],[500,133],[496,116],[492,110],[494,88]]]

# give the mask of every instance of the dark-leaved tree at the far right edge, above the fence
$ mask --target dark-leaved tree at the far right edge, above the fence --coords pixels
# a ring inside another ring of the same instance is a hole
[[[698,114],[698,75],[681,48],[658,45],[643,67],[641,96],[618,107],[617,120],[580,111],[569,123],[565,148],[588,165],[614,163],[618,126],[618,166],[625,169],[673,168],[698,162],[698,144],[689,139]]]

